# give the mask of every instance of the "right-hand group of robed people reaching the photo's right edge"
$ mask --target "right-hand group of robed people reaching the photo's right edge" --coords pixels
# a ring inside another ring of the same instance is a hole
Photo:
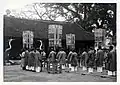
[[[97,72],[103,72],[103,69],[107,71],[107,75],[116,76],[116,49],[114,46],[110,46],[109,49],[102,49],[98,47],[97,51],[90,48],[87,52],[83,50],[81,54],[81,66],[88,73],[93,73],[94,69]]]

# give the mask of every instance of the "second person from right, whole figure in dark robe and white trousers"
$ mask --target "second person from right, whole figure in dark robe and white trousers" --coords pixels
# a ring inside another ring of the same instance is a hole
[[[103,72],[103,61],[104,61],[104,52],[101,49],[101,46],[99,46],[96,55],[97,72]]]

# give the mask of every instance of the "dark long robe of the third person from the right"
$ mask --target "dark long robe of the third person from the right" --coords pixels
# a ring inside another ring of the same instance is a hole
[[[90,50],[88,52],[87,66],[88,67],[93,67],[94,66],[94,60],[95,60],[94,50]]]

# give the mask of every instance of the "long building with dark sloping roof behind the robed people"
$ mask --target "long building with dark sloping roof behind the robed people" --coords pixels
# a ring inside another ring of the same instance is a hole
[[[54,28],[54,29],[53,29]],[[56,31],[58,29],[58,31]],[[52,44],[61,44],[61,47],[67,48],[66,34],[73,35],[74,47],[79,48],[94,46],[94,34],[84,31],[75,23],[46,21],[46,20],[28,20],[4,16],[4,52],[9,47],[8,40],[12,41],[10,56],[16,57],[23,48],[23,31],[33,32],[33,47],[38,48],[42,40],[45,51]],[[55,31],[55,32],[54,32]],[[55,38],[56,37],[56,38]],[[72,38],[71,38],[72,39]],[[69,38],[67,39],[69,40]]]

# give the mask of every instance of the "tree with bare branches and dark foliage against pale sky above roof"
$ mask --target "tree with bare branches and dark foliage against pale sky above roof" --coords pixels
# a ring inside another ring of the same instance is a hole
[[[63,17],[65,21],[76,23],[86,31],[103,28],[116,34],[115,3],[33,3],[21,10],[19,15],[52,21]]]

